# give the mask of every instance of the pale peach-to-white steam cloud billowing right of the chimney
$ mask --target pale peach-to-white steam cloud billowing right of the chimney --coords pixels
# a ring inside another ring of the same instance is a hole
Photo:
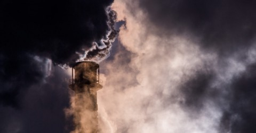
[[[228,107],[205,99],[200,109],[187,108],[181,87],[199,70],[214,73],[207,91],[226,86],[222,87],[219,95],[223,97],[218,101],[228,102],[225,96],[229,83],[246,65],[255,62],[255,47],[245,54],[246,60],[235,55],[219,60],[216,53],[201,50],[190,36],[158,36],[148,32],[155,27],[149,29],[144,25],[146,13],[139,8],[129,11],[127,6],[136,8],[136,3],[117,0],[112,5],[118,13],[117,21],[126,22],[118,38],[125,49],[117,51],[114,60],[101,64],[106,70],[104,88],[98,92],[101,131],[219,132],[222,112]]]

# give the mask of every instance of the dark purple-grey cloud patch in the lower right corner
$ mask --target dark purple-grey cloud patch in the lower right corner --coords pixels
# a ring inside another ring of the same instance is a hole
[[[256,108],[255,101],[255,64],[248,65],[246,71],[234,78],[230,93],[230,107],[223,113],[221,131],[254,132]]]

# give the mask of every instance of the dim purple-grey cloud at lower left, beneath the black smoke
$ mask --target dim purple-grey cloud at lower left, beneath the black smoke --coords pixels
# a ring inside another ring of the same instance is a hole
[[[69,132],[72,122],[64,112],[69,107],[67,78],[63,69],[53,67],[44,82],[20,90],[18,109],[0,107],[0,132]]]

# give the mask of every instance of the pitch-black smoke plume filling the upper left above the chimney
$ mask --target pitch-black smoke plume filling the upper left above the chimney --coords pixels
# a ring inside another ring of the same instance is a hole
[[[43,73],[35,56],[49,58],[53,64],[75,63],[78,54],[105,38],[113,27],[114,11],[106,12],[112,2],[2,1],[0,78],[4,87],[0,93],[9,94],[41,80]]]

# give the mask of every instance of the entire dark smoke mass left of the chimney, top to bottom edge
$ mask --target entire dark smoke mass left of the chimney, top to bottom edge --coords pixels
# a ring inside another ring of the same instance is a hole
[[[111,3],[0,2],[0,132],[69,132],[63,112],[69,77],[58,65],[72,65],[94,43],[106,48],[90,59],[108,56],[117,34]]]

